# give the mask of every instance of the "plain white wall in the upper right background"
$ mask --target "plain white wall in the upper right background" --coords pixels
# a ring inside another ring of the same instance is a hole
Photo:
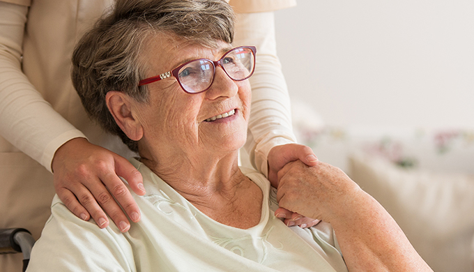
[[[275,17],[291,98],[326,123],[474,128],[474,1],[298,0]]]

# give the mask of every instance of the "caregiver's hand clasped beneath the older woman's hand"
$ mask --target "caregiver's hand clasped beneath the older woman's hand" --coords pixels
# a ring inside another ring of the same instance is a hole
[[[284,144],[275,146],[270,150],[268,153],[268,180],[273,187],[278,188],[277,173],[280,169],[295,160],[300,160],[308,166],[314,166],[318,163],[318,158],[316,158],[312,149],[302,144]],[[294,225],[312,227],[319,223],[319,220],[306,218],[283,208],[277,209],[275,216],[284,218],[284,223],[289,227]]]

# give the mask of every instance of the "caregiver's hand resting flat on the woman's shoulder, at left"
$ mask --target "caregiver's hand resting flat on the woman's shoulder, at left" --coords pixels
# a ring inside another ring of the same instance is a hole
[[[120,204],[133,222],[140,220],[139,208],[119,176],[137,195],[144,195],[142,174],[125,158],[87,139],[75,138],[56,151],[52,169],[56,193],[77,217],[89,220],[92,216],[104,228],[109,225],[107,213],[127,232],[130,222]]]

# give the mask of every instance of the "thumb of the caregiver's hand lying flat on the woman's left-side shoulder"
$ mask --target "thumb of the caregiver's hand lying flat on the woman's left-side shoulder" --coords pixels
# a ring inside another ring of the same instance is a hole
[[[137,195],[145,195],[146,191],[143,186],[143,177],[137,168],[135,168],[127,159],[122,156],[114,156],[115,161],[115,173],[117,176],[123,177],[128,182],[130,188]]]

